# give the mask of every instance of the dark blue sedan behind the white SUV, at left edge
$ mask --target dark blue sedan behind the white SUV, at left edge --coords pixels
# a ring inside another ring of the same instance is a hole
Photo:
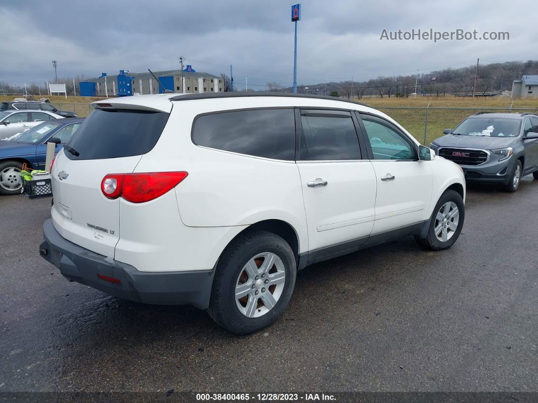
[[[20,193],[20,169],[26,164],[31,169],[44,169],[47,142],[58,138],[57,153],[79,128],[84,118],[65,118],[45,121],[10,140],[0,140],[0,195]]]

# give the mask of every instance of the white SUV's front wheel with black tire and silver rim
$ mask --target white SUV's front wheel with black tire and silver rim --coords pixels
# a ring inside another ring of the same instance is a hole
[[[454,211],[456,213],[453,213]],[[447,221],[443,221],[444,218],[447,218]],[[465,206],[462,196],[455,190],[447,190],[435,205],[434,212],[428,223],[429,228],[426,237],[421,238],[420,235],[415,235],[415,241],[423,248],[432,251],[448,249],[456,243],[459,234],[461,234],[464,220]],[[450,223],[455,224],[455,228]],[[440,225],[441,231],[437,232],[436,235],[436,230],[439,231]],[[447,226],[443,227],[444,225]],[[444,238],[446,240],[443,240]]]

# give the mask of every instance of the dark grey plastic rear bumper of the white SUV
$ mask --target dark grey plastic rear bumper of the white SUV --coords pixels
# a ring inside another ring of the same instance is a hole
[[[141,272],[135,267],[107,258],[67,241],[49,218],[43,224],[45,241],[39,254],[60,269],[70,281],[80,282],[119,298],[160,305],[209,306],[215,270],[183,272]],[[101,274],[121,281],[102,280]]]

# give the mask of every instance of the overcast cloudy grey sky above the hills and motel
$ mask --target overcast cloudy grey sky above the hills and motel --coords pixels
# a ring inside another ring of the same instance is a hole
[[[293,82],[292,1],[0,1],[0,81],[193,68],[236,86]],[[428,73],[481,62],[538,59],[538,6],[510,2],[302,1],[298,83]],[[387,31],[508,31],[509,40],[380,40]],[[256,88],[256,87],[252,87]],[[260,87],[263,88],[263,87]]]

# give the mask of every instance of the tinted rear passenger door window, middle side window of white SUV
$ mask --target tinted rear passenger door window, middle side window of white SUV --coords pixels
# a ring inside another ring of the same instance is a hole
[[[359,140],[350,112],[302,110],[301,124],[301,159],[360,159]]]

